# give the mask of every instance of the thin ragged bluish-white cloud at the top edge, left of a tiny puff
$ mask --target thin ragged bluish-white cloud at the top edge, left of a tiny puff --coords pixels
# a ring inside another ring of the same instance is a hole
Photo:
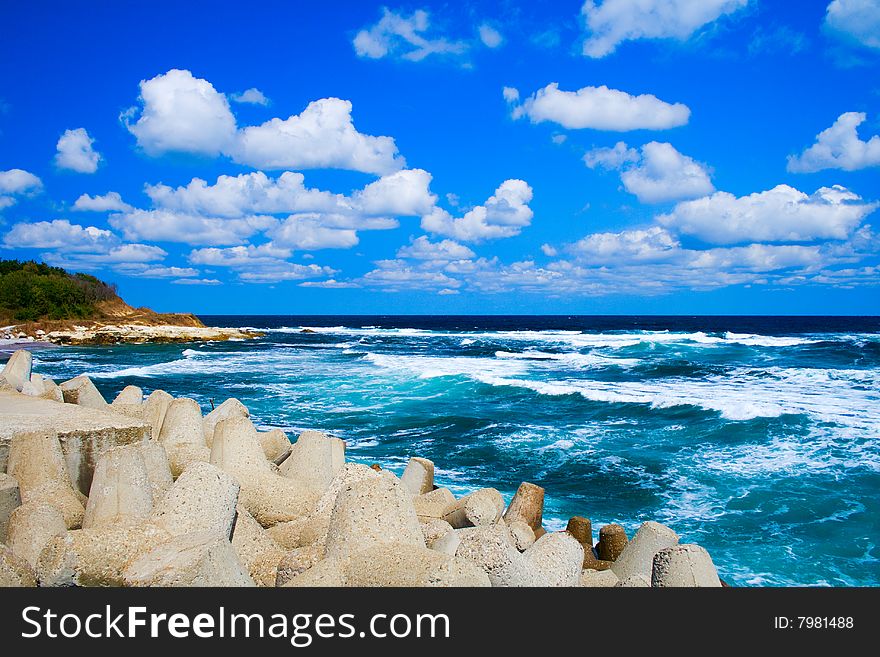
[[[383,8],[378,23],[357,33],[354,50],[358,57],[381,59],[399,55],[413,62],[429,55],[463,55],[468,51],[468,44],[464,41],[429,38],[429,29],[430,16],[424,10],[405,16]]]

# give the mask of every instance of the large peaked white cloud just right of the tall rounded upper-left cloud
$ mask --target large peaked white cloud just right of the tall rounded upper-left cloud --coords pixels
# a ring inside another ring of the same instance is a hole
[[[394,139],[358,132],[351,102],[339,98],[322,98],[301,114],[244,128],[231,155],[258,169],[333,167],[382,175],[405,166]]]

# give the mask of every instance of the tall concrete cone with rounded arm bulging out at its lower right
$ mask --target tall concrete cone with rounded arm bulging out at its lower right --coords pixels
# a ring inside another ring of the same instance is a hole
[[[318,501],[319,494],[312,488],[272,469],[248,418],[230,417],[217,423],[211,463],[238,480],[242,506],[263,527],[307,516]]]

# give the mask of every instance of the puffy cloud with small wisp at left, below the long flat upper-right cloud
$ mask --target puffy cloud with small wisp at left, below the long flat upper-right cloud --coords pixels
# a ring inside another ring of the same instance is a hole
[[[715,191],[704,164],[679,153],[672,144],[652,141],[641,152],[618,142],[584,155],[588,167],[621,171],[620,180],[643,203],[663,203]]]

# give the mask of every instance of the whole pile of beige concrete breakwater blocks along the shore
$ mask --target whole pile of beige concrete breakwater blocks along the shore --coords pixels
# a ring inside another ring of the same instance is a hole
[[[723,585],[669,527],[594,542],[584,517],[546,531],[543,504],[528,482],[456,499],[427,459],[397,477],[319,431],[291,444],[236,399],[203,415],[128,386],[108,403],[26,350],[0,375],[0,586]]]

